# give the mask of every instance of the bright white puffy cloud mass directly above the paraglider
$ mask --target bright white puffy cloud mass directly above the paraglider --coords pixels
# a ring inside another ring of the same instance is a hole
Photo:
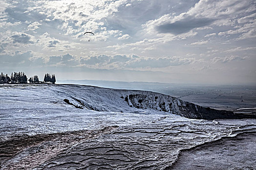
[[[59,20],[61,24],[58,26],[66,35],[80,36],[81,32],[91,31],[97,33],[96,41],[106,40],[111,34],[102,33],[102,28],[106,31],[118,30],[116,28],[106,27],[109,18],[111,19],[117,13],[120,6],[125,6],[130,2],[137,0],[76,0],[74,2],[66,0],[53,1],[35,1],[27,9],[27,13],[37,12],[41,16],[45,16],[43,20],[53,21]],[[116,33],[115,34],[119,34]],[[121,34],[121,37],[123,35]],[[128,38],[125,35],[123,38]]]

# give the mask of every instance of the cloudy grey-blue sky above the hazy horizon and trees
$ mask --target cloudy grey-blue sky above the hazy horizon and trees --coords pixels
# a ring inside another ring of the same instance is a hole
[[[14,71],[256,85],[256,1],[0,0],[0,72]]]

